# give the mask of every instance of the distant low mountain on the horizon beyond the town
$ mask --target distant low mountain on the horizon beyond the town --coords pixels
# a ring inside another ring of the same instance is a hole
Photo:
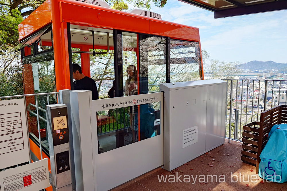
[[[251,62],[247,62],[245,64],[239,64],[237,65],[238,69],[248,69],[248,70],[280,70],[283,67],[287,67],[287,63],[283,64],[283,63],[277,63],[274,61],[267,61],[267,62],[263,62],[263,61],[251,61]]]

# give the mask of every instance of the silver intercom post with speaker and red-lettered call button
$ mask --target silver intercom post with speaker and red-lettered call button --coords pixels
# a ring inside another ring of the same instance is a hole
[[[53,104],[46,107],[47,129],[53,190],[71,191],[69,127],[67,105]]]

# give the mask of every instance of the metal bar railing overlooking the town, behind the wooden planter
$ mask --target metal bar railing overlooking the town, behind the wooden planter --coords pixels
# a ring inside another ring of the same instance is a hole
[[[287,80],[232,80],[227,82],[225,137],[242,139],[243,125],[260,120],[260,113],[287,103]]]

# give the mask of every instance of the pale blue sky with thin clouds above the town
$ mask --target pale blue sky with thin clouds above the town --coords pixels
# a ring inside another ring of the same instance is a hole
[[[287,63],[287,10],[214,19],[212,11],[167,0],[163,8],[152,4],[150,11],[163,20],[199,28],[201,49],[210,59]]]

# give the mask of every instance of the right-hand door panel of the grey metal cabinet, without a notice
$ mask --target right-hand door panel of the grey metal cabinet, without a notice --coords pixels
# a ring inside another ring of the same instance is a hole
[[[206,150],[224,143],[226,84],[207,86]]]

